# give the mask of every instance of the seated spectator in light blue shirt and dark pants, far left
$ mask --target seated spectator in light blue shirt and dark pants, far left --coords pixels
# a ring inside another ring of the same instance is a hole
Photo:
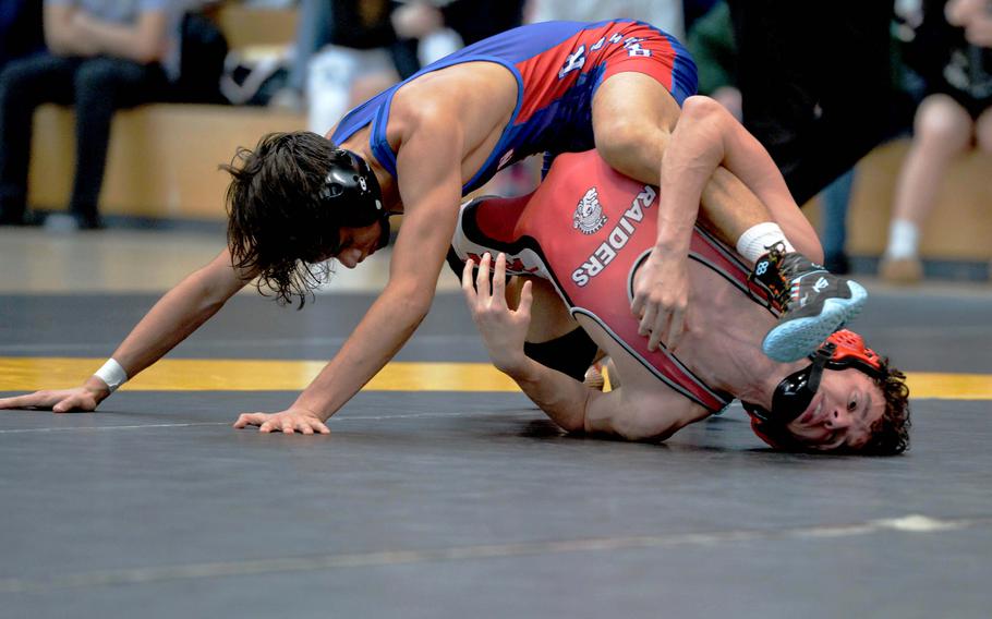
[[[46,0],[49,52],[0,73],[0,222],[25,223],[32,117],[43,102],[75,106],[73,227],[100,227],[97,203],[114,110],[161,99],[179,72],[180,2]]]

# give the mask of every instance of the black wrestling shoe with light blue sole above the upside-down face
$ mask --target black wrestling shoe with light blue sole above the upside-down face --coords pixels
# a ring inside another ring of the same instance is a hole
[[[789,362],[812,354],[831,333],[850,321],[868,300],[858,282],[833,275],[779,243],[758,258],[751,278],[775,295],[782,314],[761,342],[769,357]]]

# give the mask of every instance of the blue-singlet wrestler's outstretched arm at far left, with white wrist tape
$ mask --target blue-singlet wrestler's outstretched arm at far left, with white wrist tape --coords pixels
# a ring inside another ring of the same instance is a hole
[[[233,267],[230,253],[223,250],[208,265],[166,293],[118,347],[113,359],[133,378],[206,323],[253,277],[253,272]],[[38,391],[2,399],[0,409],[93,411],[108,396],[110,390],[107,384],[92,376],[75,389]]]

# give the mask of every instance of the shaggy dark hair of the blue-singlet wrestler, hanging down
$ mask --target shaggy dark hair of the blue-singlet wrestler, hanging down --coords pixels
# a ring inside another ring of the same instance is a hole
[[[258,292],[273,291],[280,305],[299,298],[302,308],[340,248],[340,222],[318,195],[336,148],[309,131],[269,133],[220,167],[231,174],[225,202],[233,265],[257,270]]]

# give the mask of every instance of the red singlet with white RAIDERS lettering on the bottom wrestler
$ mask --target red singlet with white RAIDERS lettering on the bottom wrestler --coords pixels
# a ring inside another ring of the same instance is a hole
[[[657,204],[656,187],[616,172],[595,150],[565,154],[534,193],[463,205],[451,246],[462,263],[504,252],[508,272],[551,280],[573,316],[595,320],[652,374],[717,412],[733,397],[706,386],[664,345],[649,351],[630,312],[633,274],[657,235]],[[740,257],[699,227],[689,257],[777,315]]]

